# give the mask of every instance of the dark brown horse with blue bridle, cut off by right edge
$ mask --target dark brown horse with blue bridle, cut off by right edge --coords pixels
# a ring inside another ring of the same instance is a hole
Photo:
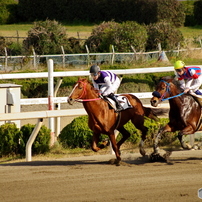
[[[162,127],[154,143],[154,153],[158,153],[158,140],[165,132],[178,133],[178,139],[183,149],[191,149],[189,144],[183,141],[183,135],[194,134],[196,131],[202,130],[201,107],[195,98],[190,94],[184,94],[180,91],[177,84],[171,77],[163,77],[153,92],[151,105],[157,107],[164,100],[169,100],[169,123]]]

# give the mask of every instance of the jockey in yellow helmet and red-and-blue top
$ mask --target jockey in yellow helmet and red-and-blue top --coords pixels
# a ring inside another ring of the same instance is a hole
[[[184,93],[194,92],[196,95],[202,95],[199,88],[202,84],[202,70],[197,66],[186,67],[185,63],[178,60],[174,64],[175,75],[179,81],[180,88]]]

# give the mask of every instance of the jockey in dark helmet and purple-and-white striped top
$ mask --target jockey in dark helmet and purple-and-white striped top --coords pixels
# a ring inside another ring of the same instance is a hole
[[[100,90],[103,97],[111,98],[116,103],[117,111],[121,111],[123,108],[114,95],[121,83],[119,77],[110,71],[101,71],[97,65],[90,67],[90,74],[94,88]]]

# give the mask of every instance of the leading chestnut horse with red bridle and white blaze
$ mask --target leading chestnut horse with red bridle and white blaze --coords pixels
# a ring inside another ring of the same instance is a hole
[[[108,135],[116,155],[117,164],[121,161],[120,146],[130,137],[130,133],[124,128],[124,125],[131,120],[134,126],[142,132],[139,147],[140,153],[145,155],[143,146],[148,129],[144,126],[144,116],[156,120],[152,110],[143,107],[137,97],[132,94],[123,95],[128,98],[132,108],[116,113],[106,101],[99,97],[99,92],[93,88],[87,79],[79,79],[68,98],[69,104],[73,104],[74,101],[83,101],[83,106],[89,116],[88,125],[93,131],[92,150],[97,152],[103,148],[103,145],[98,146],[100,134]],[[122,139],[118,143],[115,139],[115,129],[122,134]]]

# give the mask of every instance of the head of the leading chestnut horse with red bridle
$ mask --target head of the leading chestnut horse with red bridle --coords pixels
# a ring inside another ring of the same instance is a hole
[[[73,90],[67,99],[67,102],[72,105],[75,101],[85,98],[87,93],[86,86],[88,83],[89,82],[87,79],[79,79],[74,85]]]

